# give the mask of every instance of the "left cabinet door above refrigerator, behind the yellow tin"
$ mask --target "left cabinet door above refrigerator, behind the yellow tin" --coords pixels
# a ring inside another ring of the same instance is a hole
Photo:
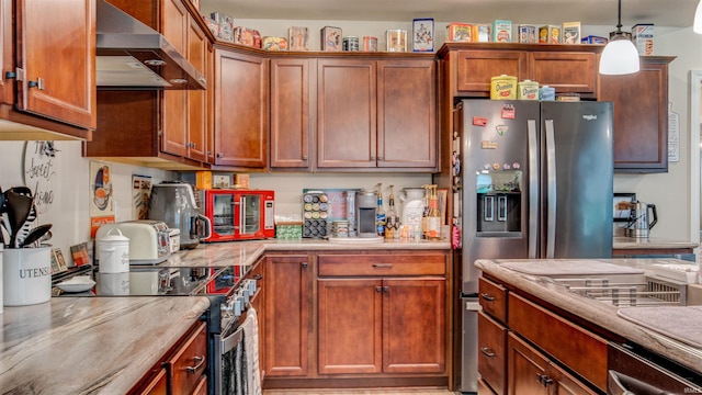
[[[490,79],[495,76],[514,76],[525,79],[526,53],[521,50],[458,50],[456,89],[490,95]]]

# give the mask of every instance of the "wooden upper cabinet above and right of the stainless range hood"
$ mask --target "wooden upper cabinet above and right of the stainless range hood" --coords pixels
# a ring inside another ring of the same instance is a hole
[[[88,157],[157,166],[166,170],[206,167],[212,156],[210,92],[213,46],[188,0],[134,2],[115,7],[161,32],[206,79],[206,90],[99,90],[98,129]],[[167,15],[163,21],[159,14]]]

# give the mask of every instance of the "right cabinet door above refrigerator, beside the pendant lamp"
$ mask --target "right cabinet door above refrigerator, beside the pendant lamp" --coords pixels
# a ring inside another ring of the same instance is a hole
[[[529,54],[529,79],[556,92],[595,98],[598,54],[534,52]]]

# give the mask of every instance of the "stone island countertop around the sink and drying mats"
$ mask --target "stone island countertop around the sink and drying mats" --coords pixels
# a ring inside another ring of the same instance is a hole
[[[509,261],[531,262],[533,260],[512,259]],[[550,261],[556,266],[561,261],[577,260],[565,259]],[[597,261],[624,264],[645,270],[646,266],[655,262],[656,259],[597,259]],[[554,306],[582,317],[601,328],[646,347],[660,356],[668,357],[702,374],[702,349],[690,347],[670,337],[633,324],[616,314],[619,307],[571,293],[566,290],[565,286],[554,283],[547,276],[523,274],[505,268],[501,266],[501,263],[505,262],[507,261],[479,259],[475,262],[475,266],[511,286],[523,290]],[[585,262],[582,262],[582,264],[585,264]],[[700,323],[700,325],[702,325],[702,323]]]

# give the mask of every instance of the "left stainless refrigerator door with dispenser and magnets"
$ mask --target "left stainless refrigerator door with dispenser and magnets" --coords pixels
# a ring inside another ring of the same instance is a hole
[[[492,100],[463,100],[462,105],[461,274],[462,292],[471,294],[478,289],[476,259],[528,258],[530,235],[535,240],[537,222],[533,229],[529,226],[530,213],[537,218],[537,203],[529,195],[537,187],[540,106],[535,101]]]

